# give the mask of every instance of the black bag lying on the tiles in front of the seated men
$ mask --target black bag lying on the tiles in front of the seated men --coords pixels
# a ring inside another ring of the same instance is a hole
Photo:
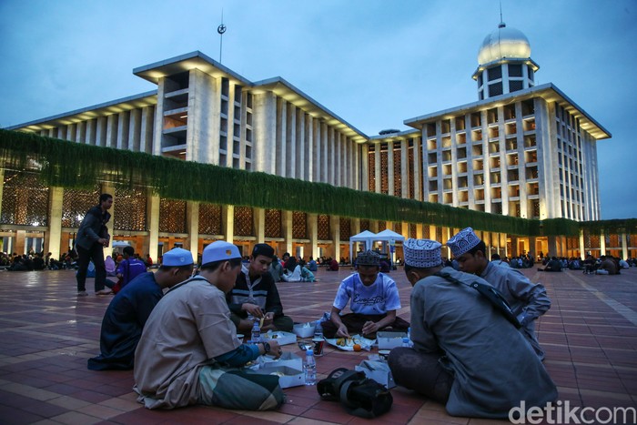
[[[340,401],[348,413],[361,418],[376,418],[391,409],[393,398],[384,386],[363,372],[339,368],[317,385],[320,398]]]

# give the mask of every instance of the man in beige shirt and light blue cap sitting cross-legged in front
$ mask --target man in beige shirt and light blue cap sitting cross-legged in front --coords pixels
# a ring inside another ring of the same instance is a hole
[[[241,271],[238,248],[213,242],[200,270],[170,288],[148,318],[136,349],[137,400],[147,409],[276,409],[283,402],[278,377],[237,369],[260,355],[281,355],[276,340],[241,344],[237,338],[226,294]]]

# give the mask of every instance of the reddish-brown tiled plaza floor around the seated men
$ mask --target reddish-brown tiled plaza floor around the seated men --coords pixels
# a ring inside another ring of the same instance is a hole
[[[318,319],[329,310],[340,279],[351,270],[320,270],[319,282],[282,283],[286,313],[297,321]],[[637,269],[621,276],[589,276],[524,270],[541,280],[552,299],[538,324],[546,368],[563,402],[582,407],[637,406]],[[410,285],[399,283],[409,319]],[[92,282],[87,282],[87,288]],[[132,372],[94,372],[86,359],[98,351],[102,315],[111,297],[76,298],[72,272],[0,272],[0,423],[363,423],[338,403],[319,400],[314,387],[286,390],[278,411],[248,412],[208,407],[145,410],[136,403]],[[287,350],[298,352],[296,345]],[[353,368],[365,353],[326,349],[319,375]],[[392,390],[392,410],[374,423],[490,423],[453,418],[442,406],[408,390]],[[602,417],[603,418],[603,417]]]

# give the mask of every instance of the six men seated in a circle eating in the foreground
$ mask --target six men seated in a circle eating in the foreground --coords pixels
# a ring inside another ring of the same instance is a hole
[[[397,383],[445,403],[452,415],[501,418],[506,417],[505,408],[508,412],[520,400],[539,406],[556,398],[533,333],[534,319],[550,301],[541,285],[511,277],[505,268],[485,260],[484,244],[474,243],[477,237],[470,234],[473,237],[465,233],[457,238],[454,254],[460,268],[509,282],[508,295],[517,297],[511,309],[522,329],[479,299],[473,288],[437,276],[443,271],[459,281],[483,281],[442,268],[440,243],[409,239],[404,261],[414,286],[414,346],[393,349],[389,366]],[[269,377],[274,383],[264,382],[238,369],[260,355],[278,358],[282,351],[276,339],[258,344],[237,339],[238,333],[248,334],[255,318],[263,319],[262,331],[293,327],[269,272],[274,260],[272,247],[257,244],[249,263],[242,264],[235,245],[217,241],[204,249],[199,275],[190,277],[191,253],[168,251],[157,273],[138,276],[111,301],[102,324],[101,354],[89,359],[89,369],[134,369],[138,400],[148,409],[190,404],[277,408],[284,400],[278,377]],[[359,254],[358,272],[340,283],[330,319],[322,324],[326,338],[360,334],[374,339],[380,329],[410,328],[397,316],[398,287],[380,272],[379,260],[373,251]],[[348,303],[351,312],[342,314]]]

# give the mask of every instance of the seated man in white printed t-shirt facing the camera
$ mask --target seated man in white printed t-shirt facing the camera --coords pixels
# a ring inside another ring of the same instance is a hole
[[[363,335],[376,338],[380,329],[407,330],[409,322],[396,316],[400,299],[396,282],[380,273],[380,256],[367,250],[356,258],[358,273],[345,278],[334,299],[331,317],[323,322],[326,338]],[[349,302],[351,313],[340,315]]]

